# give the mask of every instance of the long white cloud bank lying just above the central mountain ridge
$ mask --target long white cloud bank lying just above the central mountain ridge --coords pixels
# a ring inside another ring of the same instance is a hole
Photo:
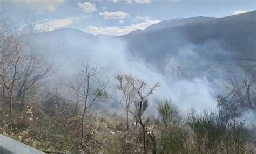
[[[160,22],[159,20],[147,20],[146,22],[138,23],[138,24],[132,24],[130,26],[124,26],[124,27],[96,27],[96,26],[89,26],[85,29],[87,33],[91,34],[105,34],[105,35],[114,35],[114,36],[120,36],[124,34],[128,34],[131,31],[134,30],[144,30],[146,27],[156,24]]]

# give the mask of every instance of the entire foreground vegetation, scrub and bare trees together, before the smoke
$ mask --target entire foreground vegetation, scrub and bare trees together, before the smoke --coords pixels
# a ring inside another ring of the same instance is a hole
[[[1,134],[46,153],[256,152],[255,125],[247,127],[242,119],[247,111],[256,113],[254,78],[232,79],[231,93],[217,97],[218,110],[203,113],[179,113],[170,99],[154,100],[160,83],[140,76],[119,73],[109,79],[114,83],[103,81],[100,68],[87,61],[70,83],[61,85],[62,92],[59,85],[47,84],[56,66],[19,42],[6,23],[0,27]],[[169,71],[176,70],[177,79],[190,78],[183,69],[177,65]],[[108,86],[115,87],[113,92]],[[104,103],[118,112],[96,110]],[[149,107],[154,115],[147,113]]]

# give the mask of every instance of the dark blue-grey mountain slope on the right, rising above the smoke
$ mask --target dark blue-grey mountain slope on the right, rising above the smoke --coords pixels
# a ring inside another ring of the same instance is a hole
[[[130,52],[160,66],[173,55],[185,55],[186,59],[255,60],[256,11],[223,18],[167,20],[122,39],[128,42]]]

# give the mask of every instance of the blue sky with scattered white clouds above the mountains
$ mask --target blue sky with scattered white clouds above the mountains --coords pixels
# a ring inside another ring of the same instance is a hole
[[[73,28],[123,35],[173,18],[224,17],[256,10],[256,0],[0,0],[18,27]]]

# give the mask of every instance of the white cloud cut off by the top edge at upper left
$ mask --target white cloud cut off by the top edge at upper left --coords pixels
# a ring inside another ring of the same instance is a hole
[[[65,0],[11,0],[16,5],[28,6],[39,12],[55,11],[57,6],[64,3]]]

